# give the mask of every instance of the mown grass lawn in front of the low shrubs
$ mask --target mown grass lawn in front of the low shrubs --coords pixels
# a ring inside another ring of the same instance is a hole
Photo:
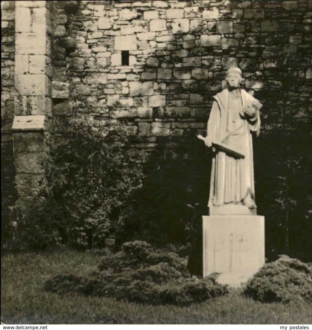
[[[311,304],[265,304],[237,290],[189,307],[150,306],[115,298],[44,292],[46,279],[94,267],[101,255],[72,250],[5,253],[1,320],[6,324],[310,324]]]

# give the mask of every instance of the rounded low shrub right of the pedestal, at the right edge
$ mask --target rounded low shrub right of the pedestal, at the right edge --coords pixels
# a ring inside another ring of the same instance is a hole
[[[243,294],[262,302],[311,302],[312,267],[281,256],[264,265],[246,284]]]

